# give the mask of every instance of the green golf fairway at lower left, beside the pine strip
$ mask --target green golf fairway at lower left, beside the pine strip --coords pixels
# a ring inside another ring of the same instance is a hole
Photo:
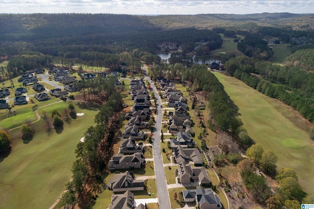
[[[39,111],[50,114],[52,109],[67,105],[60,102]],[[84,116],[78,116],[71,124],[65,123],[61,134],[53,130],[48,136],[42,120],[32,125],[35,136],[27,144],[20,138],[20,129],[10,133],[12,151],[0,159],[0,208],[49,208],[60,197],[72,175],[76,145],[97,114],[75,107]]]

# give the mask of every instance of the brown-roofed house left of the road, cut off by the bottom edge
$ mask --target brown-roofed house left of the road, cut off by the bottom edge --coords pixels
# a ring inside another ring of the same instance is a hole
[[[107,209],[145,209],[143,204],[134,207],[134,196],[131,191],[126,191],[123,194],[113,194],[111,203]]]

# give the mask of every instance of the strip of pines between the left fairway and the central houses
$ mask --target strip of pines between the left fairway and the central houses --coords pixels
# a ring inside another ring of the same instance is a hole
[[[80,200],[92,203],[96,199],[89,189],[102,184],[102,174],[112,156],[113,143],[118,140],[122,96],[112,93],[95,116],[95,125],[85,132],[85,142],[75,150],[76,161],[72,165],[72,181],[66,184],[66,192],[60,198],[58,207],[74,208]],[[87,186],[88,185],[88,188]]]

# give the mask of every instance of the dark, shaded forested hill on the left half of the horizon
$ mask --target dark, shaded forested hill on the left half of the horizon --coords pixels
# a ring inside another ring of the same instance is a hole
[[[114,14],[0,14],[1,40],[32,40],[97,33],[156,31],[138,16]]]

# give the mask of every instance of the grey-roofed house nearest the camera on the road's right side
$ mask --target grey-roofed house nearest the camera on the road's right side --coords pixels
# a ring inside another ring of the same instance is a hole
[[[196,202],[199,209],[221,209],[221,201],[219,197],[212,192],[210,188],[183,190],[183,199],[185,203]]]

